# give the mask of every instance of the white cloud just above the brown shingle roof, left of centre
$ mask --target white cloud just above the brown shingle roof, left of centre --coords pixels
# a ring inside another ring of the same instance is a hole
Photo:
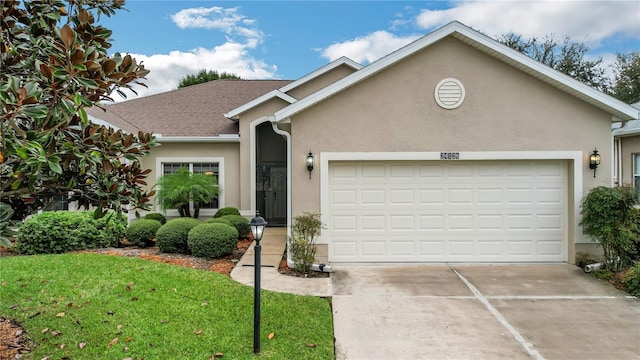
[[[131,54],[145,69],[151,72],[143,81],[147,88],[135,86],[137,97],[171,91],[178,88],[180,79],[200,70],[215,70],[238,75],[243,79],[274,79],[277,67],[251,57],[245,44],[227,42],[213,49],[197,48],[188,52],[172,51],[169,54],[151,56]],[[135,99],[136,95],[127,93],[127,99],[114,94],[117,101]]]

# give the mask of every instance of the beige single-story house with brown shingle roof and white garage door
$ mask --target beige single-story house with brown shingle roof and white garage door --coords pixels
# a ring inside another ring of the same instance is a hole
[[[580,201],[612,184],[612,123],[638,111],[452,22],[367,66],[217,80],[91,115],[156,133],[143,160],[155,176],[217,174],[204,216],[321,214],[324,262],[572,263],[597,248]]]

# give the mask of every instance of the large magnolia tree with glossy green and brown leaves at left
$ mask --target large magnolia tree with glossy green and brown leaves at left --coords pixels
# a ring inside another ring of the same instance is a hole
[[[150,170],[139,157],[156,145],[150,133],[126,134],[89,122],[86,107],[148,74],[131,56],[107,56],[111,16],[123,0],[2,1],[0,22],[0,201],[14,218],[69,196],[96,216],[147,208]],[[143,85],[143,84],[140,84]]]

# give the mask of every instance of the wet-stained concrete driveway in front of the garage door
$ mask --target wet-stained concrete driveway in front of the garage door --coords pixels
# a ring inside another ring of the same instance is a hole
[[[336,358],[640,359],[640,300],[573,265],[334,266]]]

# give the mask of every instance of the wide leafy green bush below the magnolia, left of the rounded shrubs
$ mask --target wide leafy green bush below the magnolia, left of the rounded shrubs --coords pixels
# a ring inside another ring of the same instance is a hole
[[[93,212],[46,211],[24,222],[15,247],[20,254],[35,255],[116,246],[125,224],[115,213],[94,219]]]

